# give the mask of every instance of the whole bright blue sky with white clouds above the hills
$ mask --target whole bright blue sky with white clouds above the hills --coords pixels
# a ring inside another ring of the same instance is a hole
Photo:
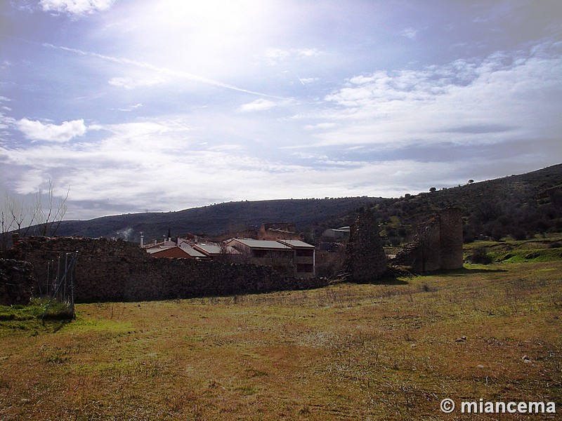
[[[65,219],[562,162],[559,0],[3,0],[0,192]]]

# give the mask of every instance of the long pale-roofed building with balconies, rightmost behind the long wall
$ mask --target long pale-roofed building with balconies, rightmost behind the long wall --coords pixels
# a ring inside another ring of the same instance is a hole
[[[271,266],[299,278],[315,275],[315,247],[301,240],[231,239],[227,246],[255,265]]]

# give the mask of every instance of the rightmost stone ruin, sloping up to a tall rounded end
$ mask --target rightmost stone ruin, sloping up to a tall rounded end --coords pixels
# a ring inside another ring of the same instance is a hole
[[[461,211],[447,208],[431,215],[392,263],[409,267],[413,272],[460,269],[463,263]]]

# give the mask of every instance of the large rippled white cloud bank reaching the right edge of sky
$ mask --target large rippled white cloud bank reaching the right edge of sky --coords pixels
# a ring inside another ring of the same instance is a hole
[[[332,110],[315,117],[339,125],[316,134],[316,145],[554,137],[562,131],[560,48],[544,43],[481,60],[354,76],[325,97]]]

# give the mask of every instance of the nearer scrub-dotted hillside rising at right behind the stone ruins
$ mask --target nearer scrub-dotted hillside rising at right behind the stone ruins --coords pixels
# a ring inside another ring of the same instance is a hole
[[[562,164],[386,199],[371,207],[382,224],[382,234],[389,243],[398,244],[407,241],[424,215],[449,206],[462,210],[465,241],[481,235],[497,240],[507,235],[525,239],[533,234],[562,232]],[[352,212],[325,221],[316,227],[315,233],[319,235],[327,227],[349,225],[354,219]]]

